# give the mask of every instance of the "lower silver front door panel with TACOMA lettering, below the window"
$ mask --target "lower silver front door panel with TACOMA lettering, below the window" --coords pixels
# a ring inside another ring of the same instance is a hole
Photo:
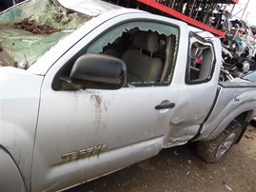
[[[79,91],[43,86],[42,92],[33,166],[40,190],[89,180],[155,155],[173,112],[155,106],[177,101],[168,86]],[[132,154],[136,151],[141,154]],[[81,176],[77,181],[72,166]]]

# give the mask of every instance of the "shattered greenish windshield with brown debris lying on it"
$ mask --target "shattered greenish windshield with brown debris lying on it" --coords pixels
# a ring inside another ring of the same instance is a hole
[[[31,0],[0,14],[0,67],[27,69],[91,17],[57,0]]]

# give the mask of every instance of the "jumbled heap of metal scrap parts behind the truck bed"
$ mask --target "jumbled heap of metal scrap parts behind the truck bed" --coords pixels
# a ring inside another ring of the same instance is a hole
[[[241,77],[256,69],[255,36],[244,21],[228,21],[226,39],[223,39],[222,43],[221,81]]]

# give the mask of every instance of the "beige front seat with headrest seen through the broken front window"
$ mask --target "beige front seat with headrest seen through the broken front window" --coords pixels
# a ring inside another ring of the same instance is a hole
[[[162,61],[154,58],[158,50],[158,36],[151,31],[140,31],[133,38],[135,48],[128,49],[122,60],[128,68],[128,82],[157,82],[161,78]]]

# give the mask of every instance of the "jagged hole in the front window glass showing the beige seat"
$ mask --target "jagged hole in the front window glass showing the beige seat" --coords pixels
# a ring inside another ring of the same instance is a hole
[[[121,37],[104,47],[101,53],[125,61],[129,84],[167,82],[171,67],[168,64],[173,61],[176,37],[167,37],[151,30],[131,31],[123,32]]]

